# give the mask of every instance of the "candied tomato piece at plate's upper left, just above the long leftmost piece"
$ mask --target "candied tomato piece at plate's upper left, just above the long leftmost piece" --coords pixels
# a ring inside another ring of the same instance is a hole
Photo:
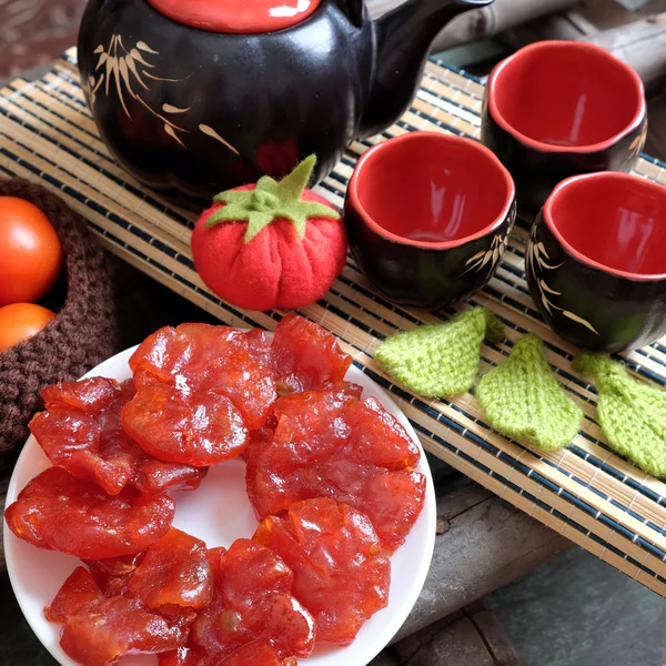
[[[122,428],[120,412],[134,396],[132,381],[92,377],[47,386],[47,411],[30,430],[49,460],[77,478],[94,481],[115,495],[125,485],[142,493],[194,490],[205,471],[149,457]]]

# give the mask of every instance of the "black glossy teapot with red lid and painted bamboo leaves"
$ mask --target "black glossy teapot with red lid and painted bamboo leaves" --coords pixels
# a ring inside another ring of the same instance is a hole
[[[210,198],[311,153],[320,181],[402,115],[440,30],[492,1],[372,21],[364,0],[89,0],[79,67],[103,141],[150,188]]]

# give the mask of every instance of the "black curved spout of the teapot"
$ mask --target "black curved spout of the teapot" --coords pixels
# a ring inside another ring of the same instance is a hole
[[[359,138],[372,137],[393,124],[408,108],[430,48],[456,16],[494,0],[407,0],[374,23],[375,61],[370,99]]]

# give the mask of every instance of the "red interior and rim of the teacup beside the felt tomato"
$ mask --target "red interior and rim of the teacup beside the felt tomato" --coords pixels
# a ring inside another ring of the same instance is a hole
[[[485,147],[458,137],[411,132],[359,161],[350,196],[365,222],[391,240],[450,248],[502,224],[515,194]]]

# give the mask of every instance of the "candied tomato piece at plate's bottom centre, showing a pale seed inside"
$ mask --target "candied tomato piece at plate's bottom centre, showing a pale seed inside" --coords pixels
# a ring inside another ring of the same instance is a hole
[[[215,592],[192,625],[193,640],[220,659],[254,640],[280,657],[306,657],[314,646],[311,615],[291,595],[293,574],[274,553],[250,539],[212,555]]]

